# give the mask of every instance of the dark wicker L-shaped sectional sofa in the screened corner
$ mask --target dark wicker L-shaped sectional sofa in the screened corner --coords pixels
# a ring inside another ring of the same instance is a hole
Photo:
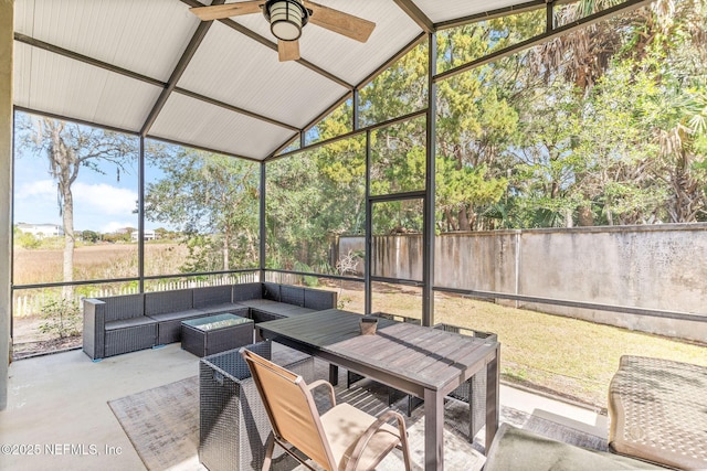
[[[224,312],[263,322],[336,306],[336,292],[273,282],[86,298],[83,350],[99,360],[179,342],[181,321]]]

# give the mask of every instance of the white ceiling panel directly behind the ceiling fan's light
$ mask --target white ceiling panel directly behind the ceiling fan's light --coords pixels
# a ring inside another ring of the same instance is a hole
[[[213,23],[178,83],[180,88],[298,128],[347,89],[244,34]]]

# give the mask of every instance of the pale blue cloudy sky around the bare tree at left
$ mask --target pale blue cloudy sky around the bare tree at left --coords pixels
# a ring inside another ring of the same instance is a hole
[[[105,174],[81,168],[72,185],[74,194],[74,229],[113,233],[123,227],[137,227],[137,170],[120,172],[106,165]],[[148,169],[146,169],[148,172]],[[150,175],[146,175],[150,179]],[[154,178],[154,175],[152,175]],[[56,182],[49,172],[43,156],[19,154],[14,160],[13,224],[62,224],[59,212]],[[145,228],[160,227],[146,221]]]

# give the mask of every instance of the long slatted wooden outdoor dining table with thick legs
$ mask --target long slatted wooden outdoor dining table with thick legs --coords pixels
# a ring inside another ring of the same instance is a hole
[[[426,470],[444,469],[444,397],[486,368],[486,450],[498,429],[500,344],[453,332],[378,320],[362,335],[360,314],[339,309],[293,315],[256,325],[261,335],[424,399]],[[472,437],[473,439],[473,437]]]

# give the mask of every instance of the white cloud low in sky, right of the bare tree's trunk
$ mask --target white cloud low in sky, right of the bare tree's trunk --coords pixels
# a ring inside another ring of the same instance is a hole
[[[105,215],[127,216],[135,210],[135,202],[137,201],[137,192],[105,183],[87,184],[76,182],[72,190],[76,206],[98,211]],[[75,207],[74,212],[82,211],[80,207]],[[125,225],[122,227],[125,227]]]

